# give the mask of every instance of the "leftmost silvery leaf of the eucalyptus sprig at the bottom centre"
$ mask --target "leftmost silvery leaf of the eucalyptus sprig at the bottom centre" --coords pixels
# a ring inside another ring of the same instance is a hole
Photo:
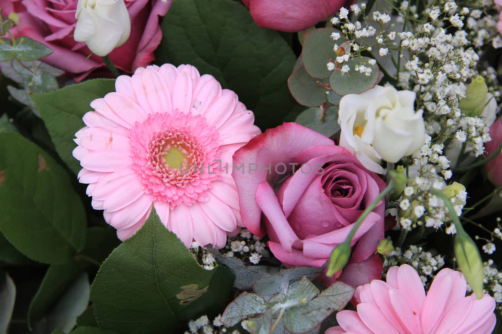
[[[220,321],[227,327],[235,325],[240,320],[254,314],[260,314],[267,309],[262,296],[256,293],[242,292],[235,298],[221,315]]]

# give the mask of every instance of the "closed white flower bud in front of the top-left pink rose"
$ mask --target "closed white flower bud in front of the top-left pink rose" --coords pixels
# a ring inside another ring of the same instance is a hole
[[[73,38],[104,57],[126,43],[131,19],[123,0],[78,0]]]

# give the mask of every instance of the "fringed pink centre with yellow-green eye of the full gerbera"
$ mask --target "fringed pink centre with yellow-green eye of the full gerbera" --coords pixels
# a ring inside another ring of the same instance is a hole
[[[218,180],[218,134],[206,120],[178,111],[154,114],[130,130],[133,167],[152,200],[181,203],[205,201],[205,191]]]

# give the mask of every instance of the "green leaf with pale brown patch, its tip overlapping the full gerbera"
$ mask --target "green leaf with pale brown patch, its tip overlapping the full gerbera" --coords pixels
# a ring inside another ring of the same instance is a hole
[[[222,309],[232,285],[227,268],[203,269],[153,209],[145,225],[103,262],[91,300],[102,328],[164,334]]]

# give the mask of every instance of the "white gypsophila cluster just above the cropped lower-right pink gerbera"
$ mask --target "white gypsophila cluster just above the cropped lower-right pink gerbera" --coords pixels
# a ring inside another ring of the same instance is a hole
[[[385,256],[384,272],[387,272],[394,265],[401,264],[409,264],[414,267],[418,271],[422,283],[428,289],[439,269],[444,266],[444,259],[441,255],[433,255],[433,253],[415,245],[411,245],[404,252],[401,248],[396,247],[394,251]]]

